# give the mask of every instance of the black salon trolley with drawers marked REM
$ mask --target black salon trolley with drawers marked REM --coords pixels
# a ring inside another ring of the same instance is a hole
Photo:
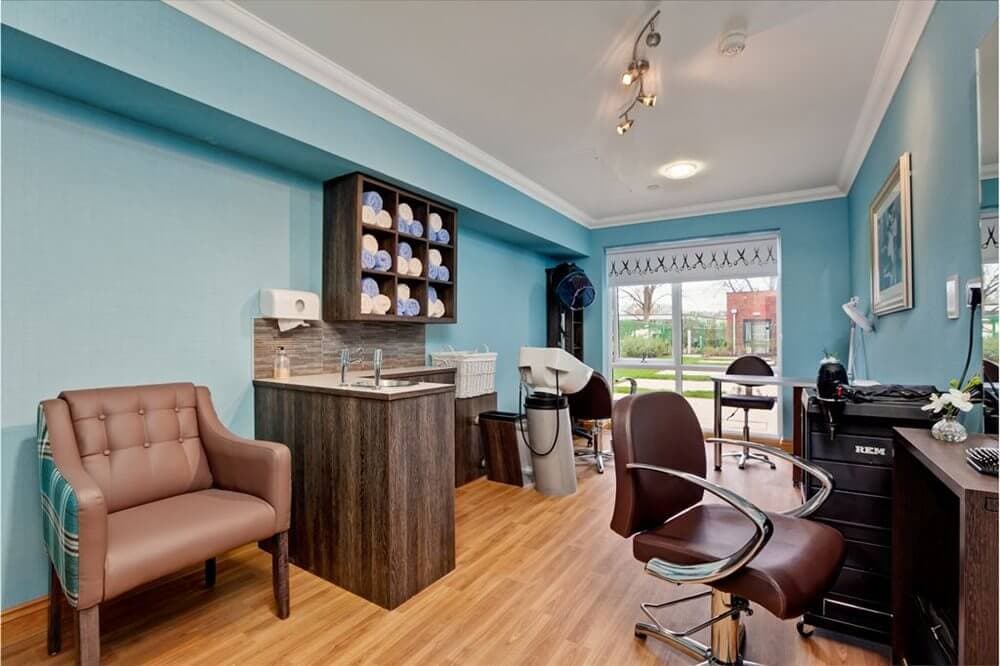
[[[803,392],[805,451],[834,477],[834,491],[811,518],[847,542],[844,568],[804,615],[807,624],[889,643],[892,631],[893,428],[929,428],[923,402],[847,403],[831,439],[816,392]],[[819,490],[807,481],[806,497]]]

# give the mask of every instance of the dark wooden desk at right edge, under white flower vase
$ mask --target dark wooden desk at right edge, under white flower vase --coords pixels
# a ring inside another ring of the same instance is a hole
[[[931,437],[929,430],[895,430],[894,663],[931,661],[922,650],[933,636],[920,619],[916,595],[956,625],[955,663],[1000,662],[997,478],[980,474],[965,462],[965,449],[996,445],[996,437],[988,435],[946,444]]]

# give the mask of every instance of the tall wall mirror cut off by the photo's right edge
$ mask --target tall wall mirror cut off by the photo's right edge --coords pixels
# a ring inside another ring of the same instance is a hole
[[[979,103],[979,232],[983,284],[983,416],[986,432],[997,432],[997,343],[1000,294],[997,293],[997,23],[976,50]]]

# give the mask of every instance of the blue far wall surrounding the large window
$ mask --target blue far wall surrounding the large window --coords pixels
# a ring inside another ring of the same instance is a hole
[[[758,208],[694,218],[630,224],[594,233],[581,262],[600,279],[599,302],[585,320],[587,363],[605,367],[604,328],[610,320],[604,251],[615,246],[728,234],[777,231],[781,236],[781,362],[787,376],[815,375],[823,350],[847,351],[847,319],[840,305],[851,296],[846,199]],[[589,313],[588,313],[589,314]],[[843,357],[843,356],[842,356]],[[785,436],[791,433],[791,392],[784,401]]]

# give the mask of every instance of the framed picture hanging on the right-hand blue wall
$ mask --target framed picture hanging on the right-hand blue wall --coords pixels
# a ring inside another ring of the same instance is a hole
[[[872,312],[913,307],[910,154],[903,153],[869,209],[872,236]]]

